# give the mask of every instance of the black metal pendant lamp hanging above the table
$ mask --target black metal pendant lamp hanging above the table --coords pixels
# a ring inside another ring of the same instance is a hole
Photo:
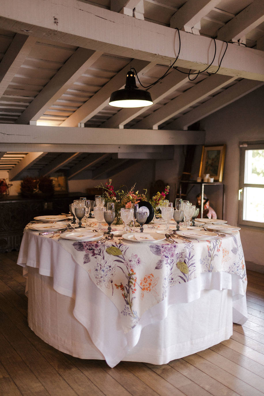
[[[136,86],[135,74],[127,72],[125,88],[114,91],[110,96],[110,106],[114,107],[145,107],[153,105],[150,93]]]

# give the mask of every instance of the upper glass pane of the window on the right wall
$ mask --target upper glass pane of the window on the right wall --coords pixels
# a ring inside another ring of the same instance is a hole
[[[245,150],[246,184],[264,184],[264,150]]]

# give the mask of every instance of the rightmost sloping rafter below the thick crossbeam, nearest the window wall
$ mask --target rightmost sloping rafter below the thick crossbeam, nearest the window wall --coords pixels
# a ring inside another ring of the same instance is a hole
[[[259,88],[263,84],[264,83],[260,81],[241,80],[218,93],[218,95],[215,95],[207,102],[202,103],[200,106],[177,118],[177,120],[171,124],[166,125],[166,129],[186,129],[188,126],[194,124],[194,122],[230,105],[230,103],[254,91],[254,89]]]

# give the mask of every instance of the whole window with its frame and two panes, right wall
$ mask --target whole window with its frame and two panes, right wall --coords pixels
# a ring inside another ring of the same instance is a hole
[[[264,141],[240,144],[239,224],[264,227]]]

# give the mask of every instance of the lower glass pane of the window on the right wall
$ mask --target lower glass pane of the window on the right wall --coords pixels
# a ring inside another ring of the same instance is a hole
[[[245,187],[243,220],[264,222],[264,188]]]

